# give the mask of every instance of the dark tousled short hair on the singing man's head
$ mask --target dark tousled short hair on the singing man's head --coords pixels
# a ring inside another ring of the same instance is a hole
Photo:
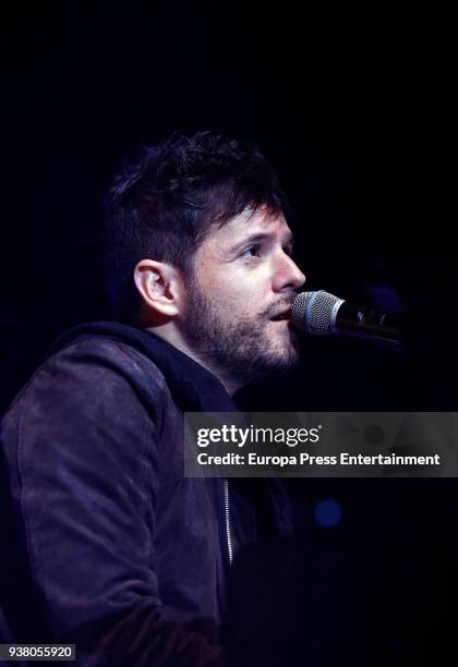
[[[173,133],[143,148],[105,198],[104,267],[116,316],[132,320],[138,312],[133,270],[141,259],[167,262],[192,276],[210,227],[260,206],[274,215],[288,207],[270,163],[249,143],[212,132]]]

